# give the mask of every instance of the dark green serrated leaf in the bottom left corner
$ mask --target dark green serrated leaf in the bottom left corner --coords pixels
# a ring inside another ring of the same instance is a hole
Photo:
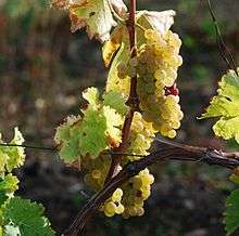
[[[21,197],[11,198],[3,213],[4,224],[18,227],[24,236],[53,236],[50,222],[43,217],[42,205]]]

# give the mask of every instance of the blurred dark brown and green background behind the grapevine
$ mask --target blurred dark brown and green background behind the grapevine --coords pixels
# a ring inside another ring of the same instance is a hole
[[[238,62],[239,1],[213,3],[225,41]],[[213,120],[197,120],[227,69],[206,2],[138,0],[138,9],[177,11],[173,28],[184,42],[178,87],[185,112],[178,141],[238,148],[234,142],[213,137]],[[71,34],[66,12],[50,9],[48,0],[0,0],[0,130],[7,141],[18,126],[26,144],[53,146],[55,128],[67,115],[78,113],[80,91],[90,86],[103,89],[106,73],[101,44],[89,41],[85,30]],[[80,173],[66,168],[56,154],[26,152],[26,165],[17,170],[17,194],[42,202],[60,235],[91,193]],[[156,183],[143,217],[122,220],[99,214],[85,235],[225,235],[223,209],[234,188],[226,170],[171,162],[156,165],[152,171]]]

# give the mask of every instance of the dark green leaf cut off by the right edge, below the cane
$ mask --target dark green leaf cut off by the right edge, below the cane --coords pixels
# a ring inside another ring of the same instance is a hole
[[[239,189],[227,197],[224,221],[227,235],[231,235],[239,227]]]

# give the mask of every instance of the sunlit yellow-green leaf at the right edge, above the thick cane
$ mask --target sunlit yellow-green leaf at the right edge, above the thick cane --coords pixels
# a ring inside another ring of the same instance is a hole
[[[219,118],[213,126],[217,136],[235,139],[239,143],[239,77],[232,70],[223,76],[217,95],[201,118],[211,117]]]

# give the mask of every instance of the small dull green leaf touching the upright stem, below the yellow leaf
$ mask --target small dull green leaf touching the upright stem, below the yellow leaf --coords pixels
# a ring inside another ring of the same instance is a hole
[[[103,105],[114,108],[117,113],[122,114],[123,116],[126,114],[128,108],[125,105],[125,99],[122,96],[121,92],[109,91],[103,95]]]

